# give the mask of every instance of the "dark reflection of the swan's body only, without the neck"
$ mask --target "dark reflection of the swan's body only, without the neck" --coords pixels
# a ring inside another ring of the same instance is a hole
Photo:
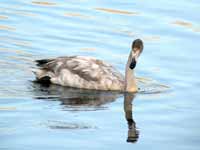
[[[105,109],[105,104],[122,96],[119,92],[84,90],[53,84],[50,86],[33,84],[33,91],[34,98],[59,100],[65,109],[71,111]]]

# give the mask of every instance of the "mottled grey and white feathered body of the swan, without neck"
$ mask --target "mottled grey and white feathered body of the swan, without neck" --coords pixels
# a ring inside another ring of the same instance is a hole
[[[96,90],[124,89],[124,77],[111,65],[86,56],[66,56],[36,60],[37,80],[46,76],[51,83]]]

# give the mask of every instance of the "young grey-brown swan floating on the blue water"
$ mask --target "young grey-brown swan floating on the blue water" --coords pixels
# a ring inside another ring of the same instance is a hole
[[[125,76],[112,65],[88,56],[64,56],[36,60],[36,82],[61,86],[120,92],[137,92],[134,68],[143,51],[143,42],[132,43]]]

